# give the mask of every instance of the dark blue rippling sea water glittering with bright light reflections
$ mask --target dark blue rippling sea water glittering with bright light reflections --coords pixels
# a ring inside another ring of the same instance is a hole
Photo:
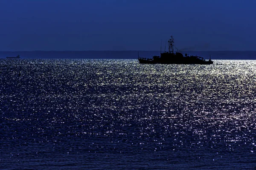
[[[253,169],[255,109],[255,60],[1,59],[0,169]]]

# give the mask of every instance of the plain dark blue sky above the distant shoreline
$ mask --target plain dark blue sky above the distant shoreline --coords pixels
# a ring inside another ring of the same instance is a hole
[[[255,0],[0,0],[0,51],[256,50]],[[163,47],[164,48],[164,47]]]

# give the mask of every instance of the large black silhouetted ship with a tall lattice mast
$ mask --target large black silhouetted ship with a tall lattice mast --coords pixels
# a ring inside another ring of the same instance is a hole
[[[138,53],[138,60],[140,64],[201,64],[207,65],[212,64],[213,61],[211,57],[209,59],[204,59],[203,57],[199,57],[197,55],[188,55],[180,51],[174,52],[174,39],[173,36],[168,41],[169,51],[165,51],[162,53],[160,51],[160,56],[153,56],[152,58],[142,58]],[[162,45],[161,45],[162,46]]]

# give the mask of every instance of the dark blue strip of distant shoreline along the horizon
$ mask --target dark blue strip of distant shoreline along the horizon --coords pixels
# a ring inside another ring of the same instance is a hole
[[[0,58],[20,55],[22,59],[137,59],[160,55],[160,51],[0,51]],[[162,51],[163,52],[163,51]],[[205,59],[256,59],[256,51],[182,51]]]

